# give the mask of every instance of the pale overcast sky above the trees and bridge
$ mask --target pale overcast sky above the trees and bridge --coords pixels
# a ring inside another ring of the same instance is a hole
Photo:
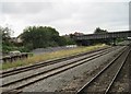
[[[2,0],[0,2],[0,25],[8,24],[14,31],[13,36],[17,36],[25,27],[33,25],[55,27],[60,35],[74,32],[91,34],[96,27],[109,32],[129,30],[130,0],[26,1]]]

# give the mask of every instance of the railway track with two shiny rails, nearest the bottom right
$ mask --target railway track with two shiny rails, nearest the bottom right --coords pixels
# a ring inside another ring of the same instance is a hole
[[[108,94],[116,78],[119,75],[121,68],[131,51],[128,47],[120,52],[110,63],[99,71],[90,82],[85,83],[75,94]]]

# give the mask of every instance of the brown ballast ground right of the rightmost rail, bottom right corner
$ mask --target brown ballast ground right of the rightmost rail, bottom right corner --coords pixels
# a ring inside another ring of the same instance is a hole
[[[131,62],[131,51],[129,52],[129,56],[123,63],[123,67],[121,68],[121,71],[119,72],[118,77],[115,79],[114,84],[110,86],[109,94],[111,93],[130,93],[130,62]]]

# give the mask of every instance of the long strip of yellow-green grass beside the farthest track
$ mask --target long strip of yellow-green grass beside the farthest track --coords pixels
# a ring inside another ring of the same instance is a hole
[[[48,52],[48,54],[44,54],[44,55],[28,57],[27,59],[24,59],[24,60],[17,60],[17,61],[14,61],[14,62],[5,62],[5,63],[1,64],[2,67],[0,67],[0,68],[2,70],[5,70],[5,69],[10,69],[10,68],[16,68],[16,67],[22,67],[22,66],[33,64],[33,63],[37,63],[37,62],[40,62],[40,61],[46,61],[46,60],[49,60],[49,59],[68,57],[68,56],[81,54],[81,52],[84,52],[84,51],[91,51],[91,50],[102,48],[102,47],[106,47],[106,46],[107,45],[99,44],[99,45],[95,45],[95,46],[76,47],[74,49],[58,50],[58,51],[55,51],[55,52]]]

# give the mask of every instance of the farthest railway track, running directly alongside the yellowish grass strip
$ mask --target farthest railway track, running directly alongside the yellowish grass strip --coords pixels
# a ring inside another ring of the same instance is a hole
[[[82,56],[85,56],[87,54],[93,54],[93,52],[97,52],[97,51],[107,50],[107,49],[110,49],[110,48],[111,47],[100,48],[100,49],[97,49],[97,50],[93,50],[93,51],[88,51],[88,52],[82,52],[82,54],[73,55],[73,56],[70,56],[70,57],[63,57],[63,58],[59,58],[59,59],[55,59],[55,60],[49,60],[49,61],[45,61],[45,62],[40,62],[40,63],[27,66],[27,67],[22,67],[22,68],[9,70],[9,71],[2,71],[0,78],[5,78],[5,77],[9,77],[9,75],[26,72],[26,71],[29,71],[29,70],[43,68],[43,67],[55,64],[55,63],[59,63],[61,61],[66,61],[66,60],[70,60],[70,59],[73,59],[73,58],[82,57]]]

